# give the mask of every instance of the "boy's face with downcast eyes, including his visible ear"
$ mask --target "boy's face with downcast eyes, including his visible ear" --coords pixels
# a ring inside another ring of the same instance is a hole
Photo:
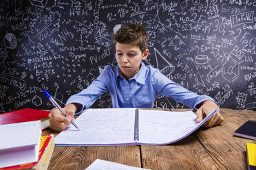
[[[116,42],[116,60],[122,75],[127,80],[140,71],[140,62],[145,60],[148,55],[149,49],[142,53],[138,45],[126,45]]]

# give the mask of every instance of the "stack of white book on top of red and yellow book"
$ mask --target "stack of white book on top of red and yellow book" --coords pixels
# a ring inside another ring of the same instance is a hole
[[[41,129],[41,121],[0,125],[0,169],[46,170],[54,150],[54,136],[41,136]]]

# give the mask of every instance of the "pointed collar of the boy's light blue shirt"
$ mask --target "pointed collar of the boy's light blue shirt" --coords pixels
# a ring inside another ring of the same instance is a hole
[[[134,75],[133,78],[136,80],[136,82],[140,83],[140,84],[145,84],[145,78],[146,78],[146,72],[147,72],[147,67],[145,66],[145,64],[143,62],[140,63],[140,71],[138,71],[138,73],[136,75]],[[122,71],[120,71],[119,66],[116,66],[116,77],[123,77],[122,76]]]

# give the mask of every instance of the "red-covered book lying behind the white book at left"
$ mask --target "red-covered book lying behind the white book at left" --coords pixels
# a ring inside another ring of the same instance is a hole
[[[0,114],[0,125],[10,123],[21,123],[25,121],[41,121],[41,128],[45,130],[50,126],[49,117],[50,111],[36,110],[31,108],[24,108],[12,112],[5,112]]]

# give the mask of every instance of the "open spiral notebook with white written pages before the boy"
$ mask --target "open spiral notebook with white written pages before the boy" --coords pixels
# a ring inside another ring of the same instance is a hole
[[[72,125],[55,138],[55,145],[166,145],[188,136],[200,123],[191,111],[167,112],[136,108],[85,110]]]

